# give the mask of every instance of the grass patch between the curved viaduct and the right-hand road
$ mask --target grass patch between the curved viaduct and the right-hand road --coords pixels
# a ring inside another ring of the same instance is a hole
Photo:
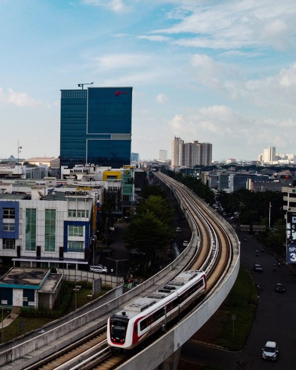
[[[241,265],[237,280],[228,296],[192,339],[239,351],[251,329],[256,308],[256,286],[247,270]],[[236,317],[234,322],[231,319],[232,315]]]

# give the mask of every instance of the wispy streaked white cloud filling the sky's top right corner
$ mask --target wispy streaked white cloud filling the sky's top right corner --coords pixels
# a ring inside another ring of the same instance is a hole
[[[293,47],[296,7],[293,0],[229,0],[226,3],[181,1],[167,17],[171,27],[152,33],[182,35],[174,43],[190,47]],[[186,35],[186,36],[185,36]]]

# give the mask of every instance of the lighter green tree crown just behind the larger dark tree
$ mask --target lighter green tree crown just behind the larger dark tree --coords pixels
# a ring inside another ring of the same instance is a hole
[[[147,211],[152,212],[156,218],[166,225],[170,225],[174,218],[174,210],[170,203],[160,195],[150,195],[148,199],[137,206],[137,216]]]

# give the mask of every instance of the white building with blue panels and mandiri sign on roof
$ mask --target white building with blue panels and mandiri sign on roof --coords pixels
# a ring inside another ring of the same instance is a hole
[[[40,199],[0,195],[3,265],[85,269],[96,231],[99,189],[68,186]]]

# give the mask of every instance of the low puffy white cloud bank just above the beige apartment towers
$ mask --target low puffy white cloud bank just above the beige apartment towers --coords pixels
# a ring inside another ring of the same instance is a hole
[[[232,155],[243,158],[248,153],[258,151],[258,147],[263,151],[269,145],[285,151],[284,148],[293,145],[289,128],[294,129],[296,121],[292,118],[254,118],[239,114],[225,105],[212,105],[200,108],[193,114],[176,114],[168,126],[172,137],[178,135],[184,142],[211,142],[213,153],[225,153],[225,148],[231,148]],[[245,153],[242,147],[247,148]]]

